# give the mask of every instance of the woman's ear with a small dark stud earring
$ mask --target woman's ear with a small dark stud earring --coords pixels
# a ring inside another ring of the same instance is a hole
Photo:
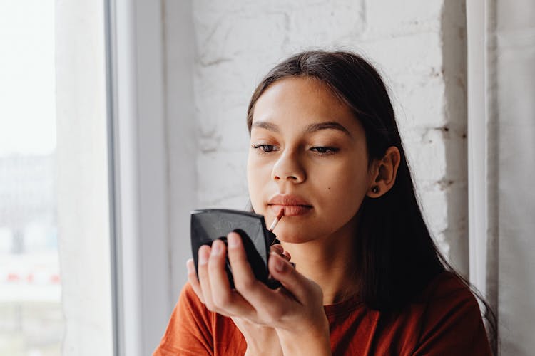
[[[401,154],[395,146],[388,147],[387,152],[381,160],[376,160],[373,164],[370,180],[370,187],[366,195],[370,198],[378,198],[388,192],[396,182],[397,168]]]

